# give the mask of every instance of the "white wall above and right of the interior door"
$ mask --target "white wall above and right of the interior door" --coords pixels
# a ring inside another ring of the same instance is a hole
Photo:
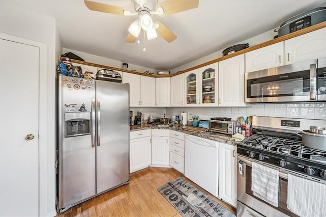
[[[42,156],[40,170],[46,167],[45,176],[40,177],[40,216],[55,216],[55,69],[56,69],[56,20],[52,17],[42,16],[32,11],[20,9],[14,1],[0,1],[0,31],[9,35],[30,39],[46,44],[46,68],[47,71],[40,73],[46,74],[46,85],[40,86],[45,100],[40,101],[46,110],[47,117],[40,117],[40,128],[45,134],[40,137],[45,138],[45,156]],[[58,43],[60,44],[60,43]],[[60,45],[58,45],[60,46]],[[23,72],[22,72],[23,73]],[[38,85],[37,83],[35,85]],[[40,130],[41,133],[41,130]],[[40,148],[41,150],[41,148]],[[43,150],[43,149],[42,149]],[[19,207],[17,207],[19,208]]]

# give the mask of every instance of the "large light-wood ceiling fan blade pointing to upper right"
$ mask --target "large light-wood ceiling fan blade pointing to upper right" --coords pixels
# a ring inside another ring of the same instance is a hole
[[[190,9],[198,8],[199,0],[167,0],[156,5],[157,8],[162,7],[164,14],[162,16],[167,16],[170,14],[176,14],[182,11],[187,11]]]

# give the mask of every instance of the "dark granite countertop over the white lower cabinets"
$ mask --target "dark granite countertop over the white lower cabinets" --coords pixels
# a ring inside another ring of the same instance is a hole
[[[130,126],[130,131],[137,131],[137,130],[144,130],[144,129],[171,129],[179,132],[183,132],[186,134],[190,135],[196,135],[196,137],[201,137],[209,140],[214,140],[218,142],[223,142],[227,143],[230,145],[237,145],[240,144],[241,142],[234,142],[230,140],[231,135],[223,134],[223,133],[217,133],[217,132],[202,132],[202,133],[197,133],[197,132],[191,132],[184,130],[180,124],[175,124],[171,127],[156,127],[151,124],[142,124],[142,125],[131,125]]]

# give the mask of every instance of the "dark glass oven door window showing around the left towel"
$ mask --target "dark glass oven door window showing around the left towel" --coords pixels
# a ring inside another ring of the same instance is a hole
[[[283,178],[280,178],[279,180],[279,207],[275,207],[257,197],[254,196],[253,192],[251,191],[251,167],[246,165],[246,194],[247,195],[250,195],[251,197],[254,197],[255,199],[287,214],[287,215],[290,215],[290,216],[297,216],[295,215],[293,212],[291,212],[290,210],[288,210],[286,208],[286,199],[287,199],[287,180],[286,179],[283,179]]]

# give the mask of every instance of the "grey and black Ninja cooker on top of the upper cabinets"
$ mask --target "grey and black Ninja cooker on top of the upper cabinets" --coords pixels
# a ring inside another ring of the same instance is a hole
[[[275,31],[278,36],[284,36],[323,21],[326,21],[326,7],[319,7],[287,19]]]

